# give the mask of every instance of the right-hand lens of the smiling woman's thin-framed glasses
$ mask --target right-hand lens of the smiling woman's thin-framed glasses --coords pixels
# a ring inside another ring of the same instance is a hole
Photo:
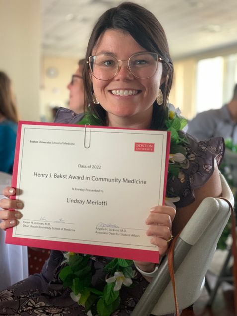
[[[128,66],[131,73],[138,78],[152,77],[158,65],[158,55],[156,53],[139,53],[131,56]]]

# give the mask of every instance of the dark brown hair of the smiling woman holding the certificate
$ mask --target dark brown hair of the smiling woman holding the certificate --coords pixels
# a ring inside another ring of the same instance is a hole
[[[117,7],[111,8],[101,15],[92,31],[86,52],[87,61],[101,34],[107,29],[119,29],[129,33],[142,47],[149,52],[157,53],[163,59],[163,83],[160,89],[164,96],[164,102],[162,106],[158,107],[155,101],[154,105],[156,106],[154,106],[153,111],[153,121],[155,121],[154,115],[156,115],[159,120],[159,128],[161,128],[162,114],[168,101],[173,80],[173,62],[169,54],[167,38],[161,24],[153,13],[135,3],[124,2]],[[90,104],[92,112],[105,124],[106,111],[102,106],[94,105],[93,103],[93,87],[88,68],[84,67],[83,75],[85,80],[85,105]],[[151,128],[155,127],[151,126]]]

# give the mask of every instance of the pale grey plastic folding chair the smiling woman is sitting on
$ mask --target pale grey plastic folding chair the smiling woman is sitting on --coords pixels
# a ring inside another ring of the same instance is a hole
[[[225,178],[222,175],[220,177],[222,197],[234,204],[232,192]],[[207,197],[178,237],[174,252],[174,271],[179,309],[192,305],[200,296],[205,274],[230,213],[226,201]],[[175,302],[167,258],[165,258],[133,310],[132,316],[169,313],[175,313]]]

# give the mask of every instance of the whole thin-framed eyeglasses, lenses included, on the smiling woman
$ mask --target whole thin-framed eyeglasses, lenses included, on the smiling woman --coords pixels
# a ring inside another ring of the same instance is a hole
[[[158,61],[162,61],[157,53],[137,53],[129,59],[117,60],[108,54],[93,55],[89,57],[87,63],[93,76],[99,80],[109,80],[118,74],[121,66],[119,62],[128,62],[127,68],[137,78],[146,79],[152,77],[158,67]]]

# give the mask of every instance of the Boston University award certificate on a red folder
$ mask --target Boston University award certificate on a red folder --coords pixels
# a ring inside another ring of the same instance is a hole
[[[6,242],[158,263],[145,220],[164,203],[169,144],[166,131],[19,122],[24,208]]]

